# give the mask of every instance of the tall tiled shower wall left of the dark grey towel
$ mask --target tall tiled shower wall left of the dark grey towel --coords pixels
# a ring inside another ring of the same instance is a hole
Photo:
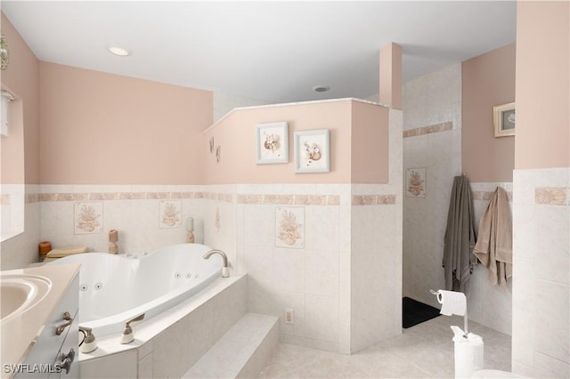
[[[423,193],[403,184],[403,295],[439,308],[444,234],[455,175],[461,174],[461,65],[403,85],[403,171],[425,171]]]

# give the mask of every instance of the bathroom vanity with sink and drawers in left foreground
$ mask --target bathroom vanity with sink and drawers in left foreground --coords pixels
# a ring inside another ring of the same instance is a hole
[[[2,378],[77,378],[79,265],[0,271]]]

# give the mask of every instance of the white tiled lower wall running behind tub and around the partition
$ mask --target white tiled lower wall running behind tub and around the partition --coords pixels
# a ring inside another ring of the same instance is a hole
[[[29,238],[32,257],[12,264],[35,262],[40,239],[108,251],[112,229],[119,253],[183,243],[193,217],[196,242],[223,249],[233,272],[248,273],[248,311],[281,318],[281,341],[348,353],[400,331],[399,300],[385,305],[400,298],[397,187],[42,186],[27,206],[42,225]],[[294,324],[285,323],[286,308]]]

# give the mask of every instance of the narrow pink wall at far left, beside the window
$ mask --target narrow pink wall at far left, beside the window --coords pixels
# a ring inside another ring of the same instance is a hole
[[[12,130],[12,136],[16,137],[18,133],[23,132],[25,181],[28,184],[37,184],[39,183],[39,61],[4,13],[2,13],[2,33],[8,43],[10,64],[8,69],[2,71],[1,80],[2,84],[19,99],[13,105],[16,108],[16,115],[20,114],[23,119],[23,131]],[[13,173],[8,174],[14,177]],[[4,176],[4,170],[2,175]]]

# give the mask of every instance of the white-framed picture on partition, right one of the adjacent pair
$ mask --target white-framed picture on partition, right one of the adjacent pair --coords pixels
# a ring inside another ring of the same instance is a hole
[[[330,172],[329,129],[295,132],[295,172]]]

